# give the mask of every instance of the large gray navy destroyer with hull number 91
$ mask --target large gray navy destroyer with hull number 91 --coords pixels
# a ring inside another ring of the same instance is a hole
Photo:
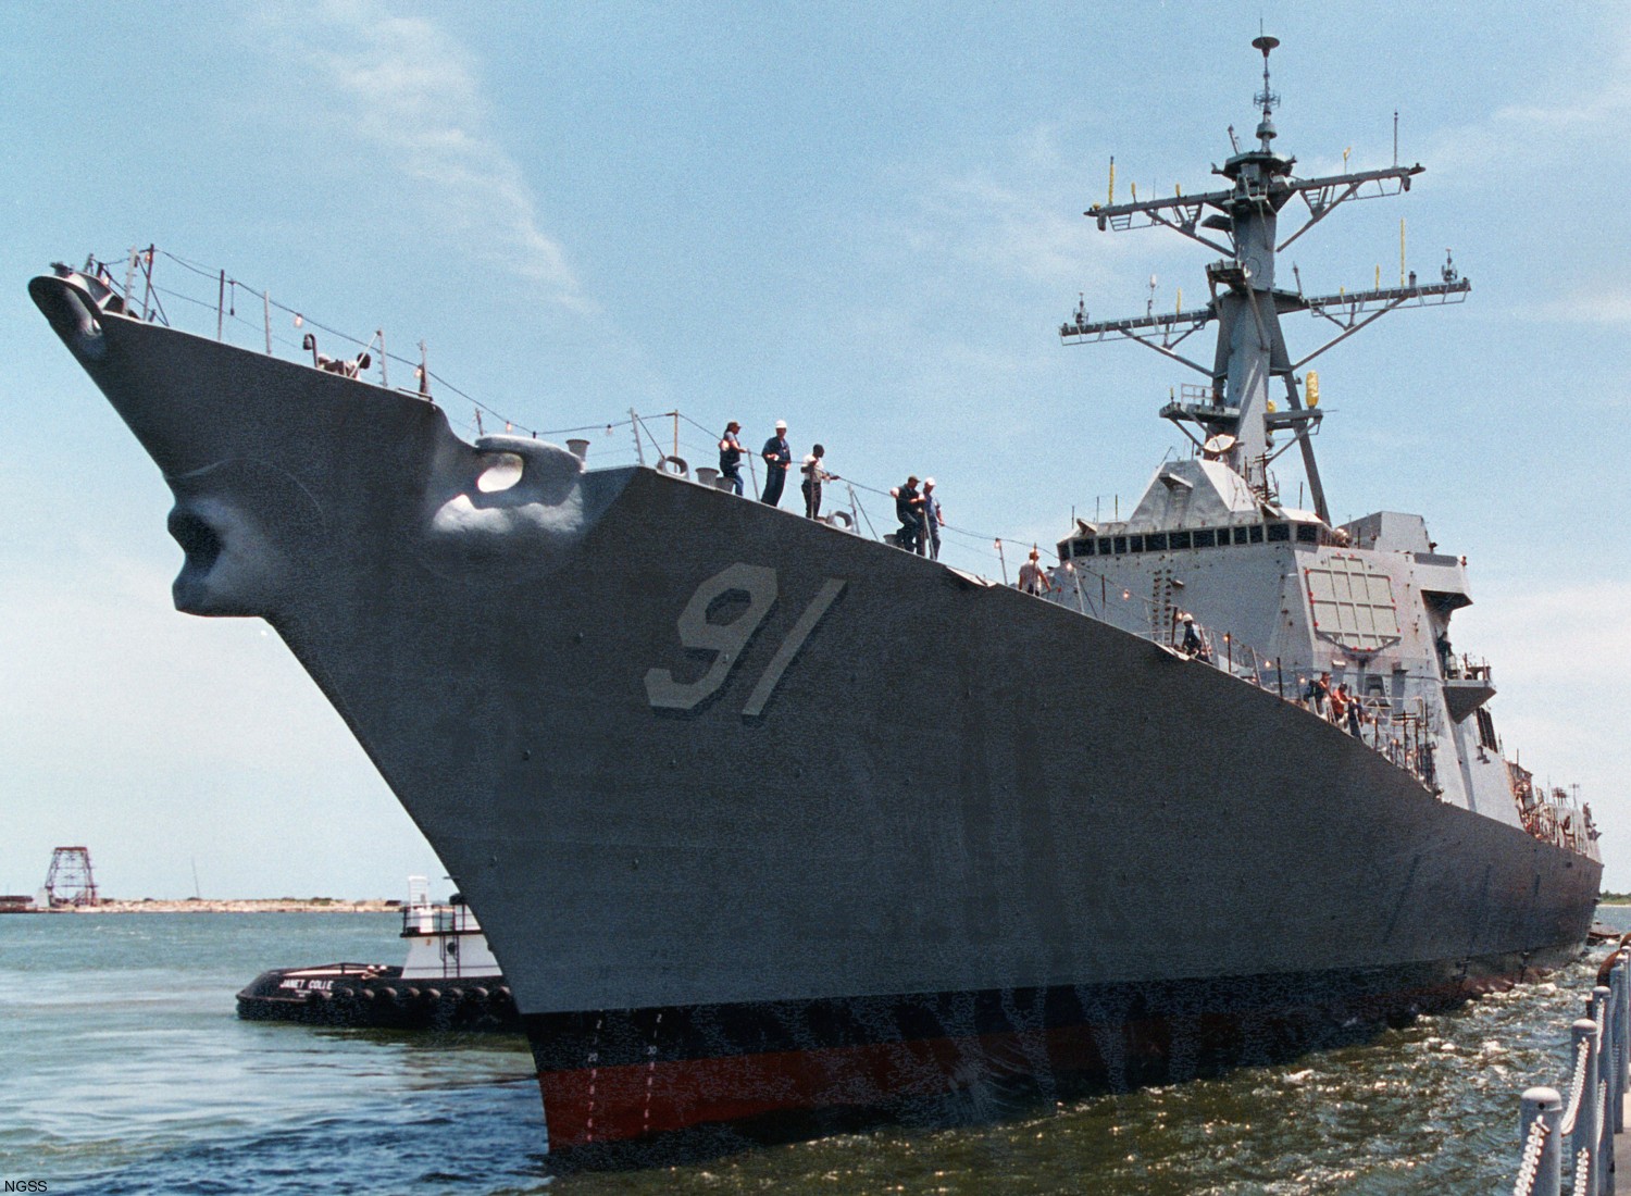
[[[1313,354],[1280,328],[1334,343],[1468,282],[1277,279],[1421,166],[1298,178],[1254,44],[1262,119],[1218,189],[1088,212],[1218,258],[1204,307],[1078,308],[1063,339],[1204,382],[1161,411],[1194,452],[1072,525],[1041,596],[690,476],[466,442],[357,364],[170,328],[129,274],[29,284],[175,493],[176,607],[277,630],[478,912],[551,1152],[995,1116],[1580,951],[1587,814],[1502,757],[1491,671],[1450,649],[1465,561],[1417,516],[1331,522]],[[1213,359],[1186,359],[1209,325]],[[1275,488],[1292,447],[1311,509]]]

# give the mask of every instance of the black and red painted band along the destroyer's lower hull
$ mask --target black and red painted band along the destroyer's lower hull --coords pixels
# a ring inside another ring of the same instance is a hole
[[[767,1041],[767,1023],[804,1041],[816,1023],[876,1028],[879,1003],[869,999],[873,1017],[855,1020],[835,1015],[840,1002],[812,1002],[793,1017],[789,1003],[768,1017],[765,1008],[744,1015],[742,1007],[621,1012],[615,1020],[625,1033],[608,1025],[613,1015],[600,1015],[589,1036],[577,1036],[579,1057],[589,1065],[540,1067],[538,1083],[551,1154],[605,1149],[651,1162],[670,1145],[690,1154],[709,1145],[806,1137],[812,1126],[983,1121],[1011,1114],[1034,1098],[1272,1064],[1308,1049],[1362,1041],[1390,1020],[1505,990],[1535,979],[1538,971],[1536,961],[1504,958],[1422,964],[1390,977],[1372,972],[1210,981],[1192,989],[1160,986],[1158,994],[1117,986],[894,999],[895,1025],[922,1026],[925,1017],[935,1015],[931,1007],[944,1012],[961,1005],[966,1025],[988,1028],[993,1010],[1001,1010],[998,1018],[1029,1028],[692,1057],[670,1052],[696,1049],[703,1041],[718,1049],[732,1028],[745,1031],[742,1041],[758,1044]],[[1385,989],[1378,987],[1383,979],[1391,981]],[[1218,989],[1228,990],[1223,1010],[1209,1005]],[[825,1008],[812,1017],[817,1005]],[[1054,1025],[1072,1008],[1101,1017]],[[1137,1013],[1103,1017],[1112,1008]],[[685,1028],[664,1034],[664,1018]],[[569,1052],[563,1026],[556,1023],[545,1039],[545,1025],[553,1020],[528,1021],[540,1062],[559,1062]]]

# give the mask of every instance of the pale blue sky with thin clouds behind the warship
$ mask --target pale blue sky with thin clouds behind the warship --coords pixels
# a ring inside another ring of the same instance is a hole
[[[1210,251],[1081,212],[1111,155],[1117,199],[1215,184],[1228,126],[1256,126],[1259,21],[1298,175],[1391,165],[1395,113],[1427,166],[1282,271],[1386,282],[1403,220],[1411,269],[1448,248],[1473,282],[1319,359],[1333,514],[1419,512],[1468,558],[1452,631],[1494,666],[1507,754],[1580,786],[1605,888],[1631,889],[1631,13],[1540,11],[0,5],[0,891],[38,889],[55,845],[119,897],[442,875],[264,625],[173,610],[170,493],[28,300],[49,263],[157,245],[178,326],[214,333],[225,269],[230,338],[263,343],[266,290],[325,349],[383,328],[395,385],[424,341],[462,434],[476,403],[484,431],[587,426],[592,465],[634,460],[631,410],[648,455],[682,411],[693,463],[698,426],[758,442],[783,418],[879,530],[877,491],[935,475],[948,558],[995,576],[995,537],[1011,568],[1073,512],[1125,512],[1182,444],[1156,411],[1189,370],[1057,328],[1078,295],[1096,318],[1204,299]],[[1290,496],[1295,454],[1277,468]]]

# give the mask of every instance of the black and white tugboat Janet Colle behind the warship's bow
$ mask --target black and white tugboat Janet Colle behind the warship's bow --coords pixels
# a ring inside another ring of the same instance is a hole
[[[431,902],[424,876],[408,878],[401,937],[408,959],[274,968],[238,994],[248,1021],[307,1021],[372,1030],[520,1033],[520,1013],[470,906],[455,893]]]

